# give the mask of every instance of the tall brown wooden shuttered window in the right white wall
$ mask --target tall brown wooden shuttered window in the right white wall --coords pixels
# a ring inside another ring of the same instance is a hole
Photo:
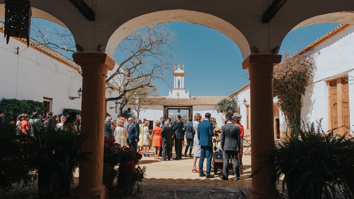
[[[344,135],[349,131],[349,85],[348,77],[342,77],[328,82],[329,129],[334,133]]]

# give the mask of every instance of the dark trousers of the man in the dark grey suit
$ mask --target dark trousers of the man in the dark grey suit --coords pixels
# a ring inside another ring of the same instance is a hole
[[[223,151],[223,177],[229,179],[229,162],[232,155],[232,163],[234,164],[234,175],[240,178],[239,168],[239,151]]]

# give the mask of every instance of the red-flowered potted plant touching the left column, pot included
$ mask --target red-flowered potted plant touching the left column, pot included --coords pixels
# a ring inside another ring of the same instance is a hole
[[[115,139],[108,139],[105,136],[105,143],[103,148],[103,184],[108,189],[113,186],[113,180],[117,175],[114,166],[119,164],[120,156],[118,154],[120,145],[115,143]]]

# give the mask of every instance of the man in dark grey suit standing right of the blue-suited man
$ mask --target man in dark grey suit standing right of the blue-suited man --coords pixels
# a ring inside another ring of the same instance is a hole
[[[227,123],[222,126],[220,138],[223,150],[223,176],[220,178],[223,180],[229,179],[229,161],[232,155],[234,175],[236,176],[236,180],[241,180],[238,156],[241,147],[240,128],[232,123],[232,115],[227,114],[225,120]]]

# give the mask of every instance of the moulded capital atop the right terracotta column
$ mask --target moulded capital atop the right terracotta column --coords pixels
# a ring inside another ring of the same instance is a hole
[[[282,61],[281,55],[250,55],[242,62],[242,68],[248,69],[256,64],[273,64],[277,65]]]

